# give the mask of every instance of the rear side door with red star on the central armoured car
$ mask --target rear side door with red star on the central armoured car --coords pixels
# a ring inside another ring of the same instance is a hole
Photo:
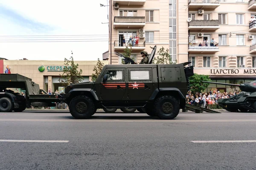
[[[153,88],[152,68],[128,68],[128,99],[146,101]]]

